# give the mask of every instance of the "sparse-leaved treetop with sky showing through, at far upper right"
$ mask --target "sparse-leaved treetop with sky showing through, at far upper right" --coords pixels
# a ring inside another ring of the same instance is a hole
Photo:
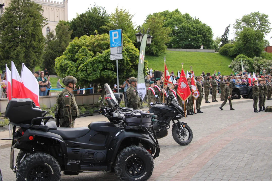
[[[271,31],[270,24],[268,15],[259,13],[258,11],[243,15],[241,19],[236,19],[234,28],[236,29],[236,34],[239,34],[244,28],[251,28],[267,35]]]

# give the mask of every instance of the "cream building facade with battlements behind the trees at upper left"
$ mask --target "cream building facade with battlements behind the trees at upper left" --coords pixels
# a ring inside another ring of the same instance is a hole
[[[8,7],[10,0],[4,0],[5,7]],[[42,5],[44,12],[42,15],[47,18],[47,25],[42,28],[42,34],[47,35],[52,30],[55,30],[58,21],[68,21],[68,0],[62,0],[62,2],[50,1],[50,0],[31,0],[37,4]]]

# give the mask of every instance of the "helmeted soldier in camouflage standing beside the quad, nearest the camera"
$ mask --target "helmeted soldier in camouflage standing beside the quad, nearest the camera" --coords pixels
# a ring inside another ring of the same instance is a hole
[[[74,128],[75,119],[79,116],[78,105],[72,91],[76,88],[78,80],[73,76],[66,76],[62,83],[65,89],[57,96],[57,114],[60,119],[60,127]]]

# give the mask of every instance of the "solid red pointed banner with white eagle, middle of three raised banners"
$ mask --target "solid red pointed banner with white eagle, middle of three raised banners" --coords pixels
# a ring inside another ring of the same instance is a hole
[[[178,84],[177,94],[178,96],[180,96],[180,99],[183,100],[184,102],[191,96],[191,90],[183,69],[180,73],[180,82]]]

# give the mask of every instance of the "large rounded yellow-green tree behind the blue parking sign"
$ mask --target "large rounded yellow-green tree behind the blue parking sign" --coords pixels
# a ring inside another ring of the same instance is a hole
[[[60,77],[73,75],[78,79],[79,85],[87,86],[91,83],[100,84],[101,87],[105,83],[113,85],[117,80],[116,62],[110,60],[109,46],[109,34],[84,35],[75,38],[63,55],[56,58],[57,75]],[[123,59],[118,62],[120,82],[123,82],[128,76],[137,77],[138,73],[139,50],[125,34],[123,34],[122,53]]]

